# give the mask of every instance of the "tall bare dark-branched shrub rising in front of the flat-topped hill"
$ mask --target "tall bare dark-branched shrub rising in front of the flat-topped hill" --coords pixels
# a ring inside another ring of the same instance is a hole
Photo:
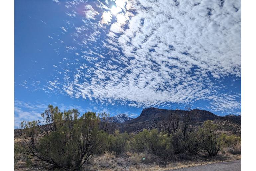
[[[201,138],[198,135],[196,122],[198,114],[192,113],[190,106],[185,108],[185,113],[180,117],[177,115],[177,109],[171,110],[167,117],[160,114],[150,117],[148,125],[156,128],[158,132],[166,132],[172,135],[172,146],[176,154],[188,151],[197,154],[202,151],[200,147]],[[160,122],[160,118],[162,122]]]

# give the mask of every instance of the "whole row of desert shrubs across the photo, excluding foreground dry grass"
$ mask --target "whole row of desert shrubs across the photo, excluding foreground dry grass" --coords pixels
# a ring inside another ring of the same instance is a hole
[[[213,121],[205,121],[196,128],[189,119],[179,124],[177,117],[164,123],[164,128],[130,134],[113,131],[105,113],[96,115],[86,112],[81,117],[76,109],[60,112],[58,107],[49,105],[41,114],[45,125],[39,121],[21,123],[21,142],[15,145],[15,164],[23,156],[30,167],[45,167],[48,170],[81,170],[93,155],[103,151],[120,154],[125,151],[136,152],[134,163],[143,162],[141,156],[149,154],[163,161],[170,161],[174,154],[207,152],[217,155],[221,147],[230,152],[241,152],[241,138],[217,133]],[[99,116],[105,118],[100,119]],[[175,121],[172,123],[171,121]],[[175,125],[174,125],[175,124]],[[163,128],[163,127],[162,127]],[[105,152],[105,153],[106,153]],[[109,153],[109,154],[110,154]]]

